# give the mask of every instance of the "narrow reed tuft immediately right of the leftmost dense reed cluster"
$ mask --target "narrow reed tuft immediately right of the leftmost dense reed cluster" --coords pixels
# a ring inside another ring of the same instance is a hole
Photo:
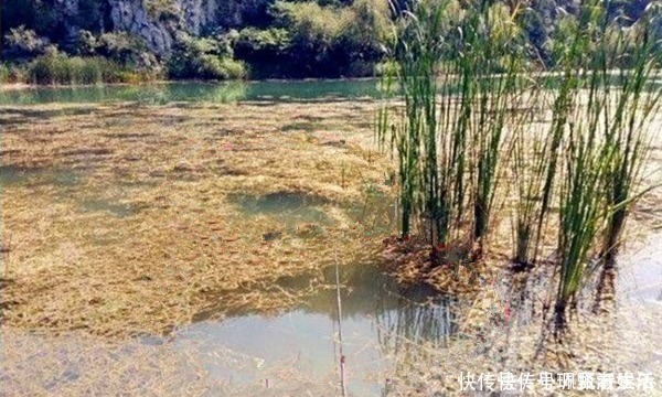
[[[463,74],[473,84],[476,104],[470,121],[470,169],[472,176],[473,228],[472,240],[481,242],[488,233],[491,210],[498,186],[498,172],[504,133],[512,121],[510,108],[521,95],[517,78],[522,72],[524,43],[516,18],[519,8],[481,1],[470,13],[467,39],[460,57]]]

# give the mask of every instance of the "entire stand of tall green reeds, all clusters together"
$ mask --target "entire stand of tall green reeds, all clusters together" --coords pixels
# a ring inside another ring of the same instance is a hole
[[[513,203],[512,259],[526,268],[545,254],[555,264],[563,329],[588,277],[613,269],[627,214],[645,192],[661,95],[650,84],[659,67],[653,13],[623,28],[608,18],[609,2],[583,3],[562,21],[548,67],[522,34],[524,10],[453,7],[421,1],[405,11],[396,67],[383,77],[404,98],[399,112],[385,105],[377,118],[381,142],[397,153],[402,237],[424,235],[433,267],[466,242],[468,257],[480,257],[493,210],[503,208],[499,183],[511,176],[515,189],[503,197]],[[449,19],[451,9],[459,18]]]

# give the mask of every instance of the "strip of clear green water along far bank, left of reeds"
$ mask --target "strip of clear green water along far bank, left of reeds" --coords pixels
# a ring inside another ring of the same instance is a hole
[[[232,83],[163,83],[134,86],[39,87],[0,92],[0,105],[47,103],[98,104],[111,101],[233,103],[242,100],[341,100],[380,95],[377,79],[273,81]]]

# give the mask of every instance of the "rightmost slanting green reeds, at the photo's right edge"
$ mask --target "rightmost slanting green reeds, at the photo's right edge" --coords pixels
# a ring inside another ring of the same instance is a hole
[[[649,121],[659,108],[662,89],[650,87],[650,82],[656,66],[654,40],[651,32],[651,21],[642,18],[629,34],[618,31],[616,43],[619,57],[629,57],[632,67],[620,69],[611,77],[606,63],[600,72],[606,84],[616,88],[616,98],[609,98],[608,111],[605,119],[605,141],[608,161],[604,176],[605,200],[609,207],[606,225],[602,232],[600,247],[600,264],[602,265],[598,286],[598,299],[605,288],[613,286],[616,256],[620,247],[621,235],[626,226],[628,213],[645,189],[640,187],[642,165],[650,150]],[[612,115],[612,116],[610,116]]]

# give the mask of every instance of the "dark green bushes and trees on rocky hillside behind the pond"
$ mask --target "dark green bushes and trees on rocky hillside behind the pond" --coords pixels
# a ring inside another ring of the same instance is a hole
[[[115,0],[6,0],[2,61],[12,65],[3,66],[2,76],[20,79],[18,69],[30,74],[26,65],[46,56],[47,51],[56,51],[61,58],[105,58],[116,68],[152,78],[369,76],[383,60],[382,43],[393,34],[409,1],[203,0],[191,6],[188,0],[132,0],[125,6],[132,7],[129,14],[136,15],[127,17]],[[424,1],[450,1],[461,12],[462,2],[457,0]],[[628,26],[650,2],[611,0],[610,18]],[[578,3],[503,2],[504,9],[513,7],[525,10],[519,23],[533,45],[531,56],[547,64],[556,62],[564,25],[573,23]],[[128,25],[149,29],[118,28],[127,26],[122,18],[135,22],[138,13],[147,20]],[[151,34],[168,43],[167,51],[154,50]],[[9,69],[14,69],[13,74]]]

